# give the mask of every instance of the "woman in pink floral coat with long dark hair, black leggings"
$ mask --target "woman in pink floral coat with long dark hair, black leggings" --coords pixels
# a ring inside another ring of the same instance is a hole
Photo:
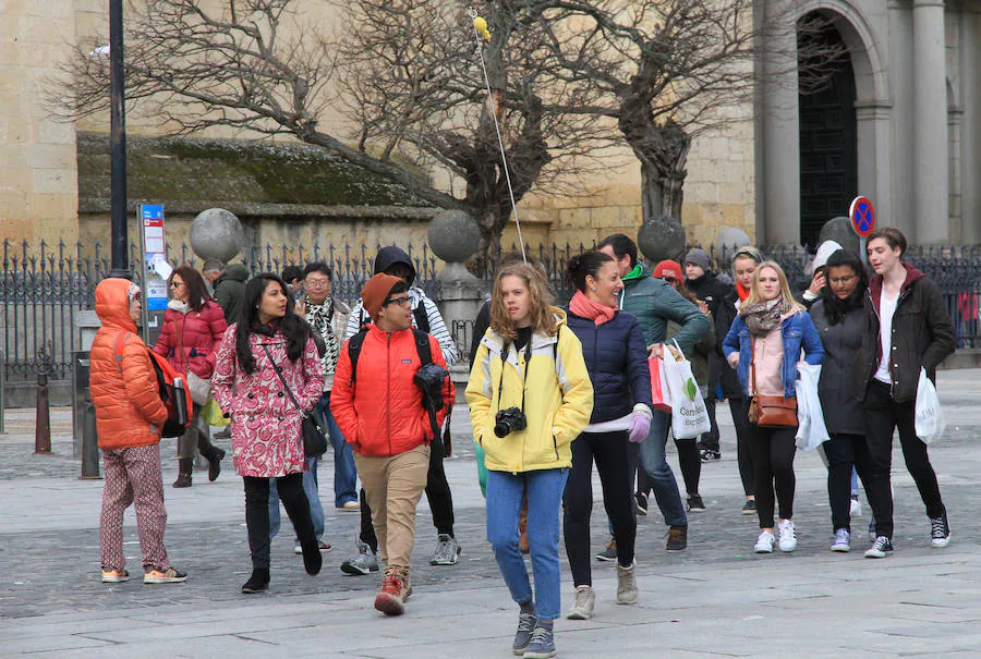
[[[242,593],[258,593],[269,587],[269,478],[277,480],[306,572],[320,571],[320,550],[303,493],[301,423],[320,398],[324,371],[310,326],[293,313],[286,282],[257,274],[245,284],[244,297],[242,320],[228,328],[218,346],[211,395],[231,418],[235,473],[245,483],[252,577]]]

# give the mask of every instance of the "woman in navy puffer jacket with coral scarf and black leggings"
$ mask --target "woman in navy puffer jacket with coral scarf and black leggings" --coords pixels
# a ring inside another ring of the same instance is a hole
[[[594,391],[590,425],[572,442],[572,469],[564,497],[566,553],[576,584],[576,602],[567,618],[585,620],[593,614],[596,599],[590,572],[594,460],[617,538],[617,601],[637,600],[637,518],[627,442],[646,438],[653,407],[644,333],[637,318],[618,309],[617,295],[623,282],[616,261],[602,252],[585,252],[569,261],[568,276],[577,292],[569,303],[567,324],[582,342]]]

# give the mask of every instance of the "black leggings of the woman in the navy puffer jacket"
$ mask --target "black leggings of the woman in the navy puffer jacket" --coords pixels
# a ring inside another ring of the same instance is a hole
[[[562,522],[566,553],[572,568],[572,581],[577,586],[593,584],[590,569],[590,514],[593,512],[594,460],[603,486],[603,505],[617,539],[617,562],[625,568],[633,564],[637,517],[633,514],[627,436],[626,431],[583,432],[572,442],[572,468],[562,496]]]

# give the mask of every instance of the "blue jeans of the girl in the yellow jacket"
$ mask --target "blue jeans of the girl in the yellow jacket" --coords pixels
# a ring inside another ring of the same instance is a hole
[[[510,474],[487,472],[487,540],[516,602],[531,601],[532,588],[518,549],[518,518],[528,497],[528,544],[535,574],[538,620],[555,620],[561,608],[559,508],[569,469]]]

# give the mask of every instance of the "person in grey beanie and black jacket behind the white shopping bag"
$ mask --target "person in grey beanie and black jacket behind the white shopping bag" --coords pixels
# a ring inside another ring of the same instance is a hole
[[[715,346],[708,353],[708,396],[705,399],[705,408],[708,411],[708,419],[712,429],[704,432],[699,440],[699,449],[702,462],[718,460],[722,451],[718,444],[718,424],[715,423],[716,391],[722,381],[723,394],[726,398],[742,398],[742,388],[736,371],[726,363],[722,354],[722,344],[726,340],[729,327],[736,318],[736,286],[722,281],[712,271],[712,257],[704,249],[692,249],[685,257],[685,285],[695,294],[695,297],[708,306],[712,320],[715,322]]]

